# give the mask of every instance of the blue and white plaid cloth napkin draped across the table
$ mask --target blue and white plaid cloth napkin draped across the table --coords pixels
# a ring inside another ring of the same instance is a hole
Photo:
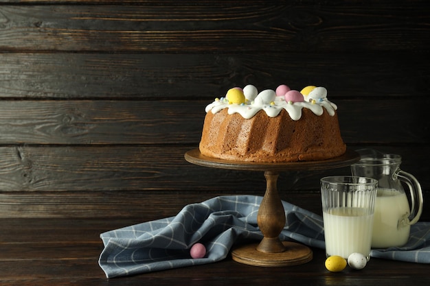
[[[174,217],[102,233],[104,250],[99,265],[112,278],[223,260],[234,243],[262,239],[257,226],[261,200],[253,195],[216,197],[189,204]],[[280,239],[325,248],[322,217],[288,202],[282,204],[286,225]],[[203,259],[190,257],[196,242],[207,249]],[[430,263],[430,222],[412,226],[406,246],[372,250],[371,256]]]

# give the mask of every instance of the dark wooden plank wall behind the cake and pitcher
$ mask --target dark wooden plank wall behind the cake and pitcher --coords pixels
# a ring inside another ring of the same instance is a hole
[[[343,139],[403,156],[430,219],[430,8],[416,1],[0,0],[0,217],[166,217],[263,174],[199,167],[228,88],[326,86]],[[282,173],[320,211],[319,178]]]

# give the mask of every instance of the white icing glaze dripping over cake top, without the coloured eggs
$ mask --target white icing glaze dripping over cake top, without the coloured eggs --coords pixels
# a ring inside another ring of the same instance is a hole
[[[255,97],[257,89],[255,86],[248,85],[245,86],[244,91],[251,91],[251,97]],[[318,116],[323,114],[323,108],[326,108],[330,116],[334,116],[335,110],[337,110],[336,104],[328,101],[326,88],[321,86],[311,91],[305,99],[308,101],[305,102],[286,102],[284,97],[275,95],[275,91],[267,89],[258,93],[253,101],[249,102],[248,100],[245,104],[229,104],[224,97],[221,97],[221,99],[207,105],[205,111],[211,111],[215,114],[216,112],[220,112],[220,110],[228,108],[227,112],[229,115],[239,113],[243,118],[250,119],[260,110],[264,110],[269,117],[276,117],[284,109],[288,112],[291,119],[297,121],[302,117],[303,108],[308,108]],[[245,93],[246,96],[247,94]]]

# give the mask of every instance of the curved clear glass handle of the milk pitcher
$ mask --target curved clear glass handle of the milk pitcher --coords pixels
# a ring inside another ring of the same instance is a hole
[[[412,176],[412,174],[409,174],[400,169],[398,169],[398,171],[394,173],[394,176],[397,176],[400,181],[407,184],[407,187],[409,188],[409,191],[411,193],[411,215],[403,219],[403,222],[401,222],[401,224],[415,224],[416,222],[418,222],[418,219],[420,219],[422,213],[422,205],[424,202],[420,182],[418,182],[418,180],[414,176]],[[418,202],[416,202],[416,200],[418,200]],[[411,219],[411,216],[414,215],[414,213],[415,216]]]

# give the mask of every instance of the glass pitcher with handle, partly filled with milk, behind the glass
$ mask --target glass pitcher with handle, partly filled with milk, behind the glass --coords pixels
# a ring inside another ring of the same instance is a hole
[[[365,150],[358,152],[361,159],[351,165],[352,175],[378,180],[372,248],[403,246],[409,238],[411,225],[418,222],[422,213],[420,183],[400,169],[401,156]],[[409,189],[410,206],[401,182]]]

